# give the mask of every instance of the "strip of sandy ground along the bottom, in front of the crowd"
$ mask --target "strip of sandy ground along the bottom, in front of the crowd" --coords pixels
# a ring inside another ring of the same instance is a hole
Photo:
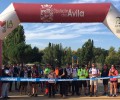
[[[120,100],[120,96],[118,97],[106,97],[106,96],[98,96],[98,97],[78,97],[78,96],[68,96],[65,98],[66,100]],[[10,100],[65,100],[60,96],[56,96],[55,98],[48,98],[42,95],[38,97],[28,97],[28,96],[10,96]]]

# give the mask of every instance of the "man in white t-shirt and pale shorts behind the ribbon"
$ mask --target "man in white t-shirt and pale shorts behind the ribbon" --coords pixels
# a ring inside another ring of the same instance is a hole
[[[89,69],[89,77],[97,78],[100,75],[99,69],[96,68],[95,64],[92,64],[92,68]],[[98,80],[90,80],[90,96],[92,96],[92,91],[94,87],[94,95],[97,96],[97,84]]]

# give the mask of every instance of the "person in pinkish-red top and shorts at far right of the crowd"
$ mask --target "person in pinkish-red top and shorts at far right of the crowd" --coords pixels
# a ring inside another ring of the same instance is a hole
[[[118,70],[112,65],[109,70],[109,76],[118,76]],[[117,96],[117,78],[110,78],[110,97]]]

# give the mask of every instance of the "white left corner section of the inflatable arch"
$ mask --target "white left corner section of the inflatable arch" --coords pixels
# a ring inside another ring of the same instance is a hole
[[[17,13],[11,4],[0,14],[0,39],[3,40],[20,23]]]

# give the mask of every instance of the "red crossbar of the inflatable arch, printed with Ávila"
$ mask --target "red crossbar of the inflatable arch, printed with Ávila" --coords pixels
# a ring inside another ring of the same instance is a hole
[[[103,22],[110,3],[24,4],[13,3],[21,22]]]

